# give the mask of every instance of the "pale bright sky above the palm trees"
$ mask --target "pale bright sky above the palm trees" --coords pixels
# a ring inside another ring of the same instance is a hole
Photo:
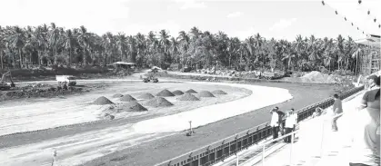
[[[357,0],[325,2],[326,5],[316,0],[0,0],[0,25],[54,22],[65,28],[85,25],[95,34],[147,34],[165,29],[175,37],[196,26],[201,31],[222,31],[241,40],[257,33],[290,41],[297,34],[321,38],[342,34],[354,39],[364,38],[363,30],[366,34],[380,34],[381,0],[363,0],[362,5]],[[372,15],[366,15],[367,10]],[[360,26],[361,31],[345,21],[344,16]],[[377,23],[372,22],[374,17],[379,19]]]

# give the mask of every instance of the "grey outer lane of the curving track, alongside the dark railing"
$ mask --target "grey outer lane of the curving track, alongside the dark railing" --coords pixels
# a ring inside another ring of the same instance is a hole
[[[255,84],[289,90],[294,98],[286,103],[276,104],[282,111],[291,108],[297,110],[308,104],[316,103],[328,97],[333,91],[333,87],[329,85],[308,85],[300,83]],[[268,111],[272,107],[274,107],[274,105],[256,110],[256,112],[249,112],[197,128],[196,134],[192,137],[186,137],[184,132],[175,133],[174,135],[156,140],[155,142],[139,144],[81,165],[155,165],[155,163],[169,160],[185,152],[196,150],[199,147],[226,138],[236,132],[241,132],[263,122],[267,122],[270,118]]]

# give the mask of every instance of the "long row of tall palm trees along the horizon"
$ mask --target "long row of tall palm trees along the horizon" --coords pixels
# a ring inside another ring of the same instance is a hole
[[[74,29],[54,23],[36,27],[0,26],[1,68],[30,68],[41,65],[106,65],[117,61],[138,65],[190,65],[253,70],[310,71],[321,66],[330,71],[356,70],[359,51],[351,37],[316,38],[296,36],[295,41],[266,39],[260,34],[241,41],[224,32],[211,34],[193,27],[171,36],[165,30],[158,33],[97,35],[85,26]]]

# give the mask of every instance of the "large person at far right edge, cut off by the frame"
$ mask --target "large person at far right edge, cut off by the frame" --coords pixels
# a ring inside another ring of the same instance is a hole
[[[358,111],[366,109],[370,117],[369,121],[366,122],[363,133],[366,153],[360,154],[365,159],[360,161],[360,163],[349,163],[350,166],[380,164],[380,77],[371,75],[367,80],[370,90],[364,94],[361,104],[357,108]]]

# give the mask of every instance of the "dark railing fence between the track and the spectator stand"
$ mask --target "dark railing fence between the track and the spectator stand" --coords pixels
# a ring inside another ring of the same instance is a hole
[[[346,97],[358,93],[363,89],[364,86],[356,87],[344,93],[340,93],[339,96],[341,99],[345,99]],[[311,116],[317,107],[326,109],[333,103],[334,99],[330,97],[296,111],[298,122]],[[283,121],[283,123],[284,122],[285,121]],[[235,155],[237,152],[243,151],[258,142],[264,141],[271,135],[272,130],[269,126],[269,122],[265,122],[254,128],[248,129],[245,132],[236,133],[235,135],[218,142],[211,143],[195,151],[189,151],[188,153],[175,157],[174,159],[156,164],[156,166],[209,166],[218,161],[224,161],[227,157]]]

